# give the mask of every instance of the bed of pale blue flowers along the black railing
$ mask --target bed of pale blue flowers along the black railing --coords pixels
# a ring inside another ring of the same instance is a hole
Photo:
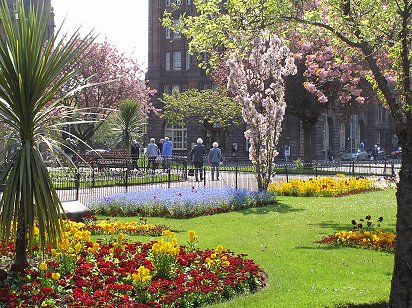
[[[273,193],[229,188],[152,189],[114,194],[90,205],[99,215],[188,218],[276,203]]]

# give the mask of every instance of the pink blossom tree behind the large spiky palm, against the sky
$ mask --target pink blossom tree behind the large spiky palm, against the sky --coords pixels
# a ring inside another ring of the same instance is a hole
[[[87,121],[70,127],[70,133],[85,143],[89,142],[102,125],[102,120],[118,108],[120,101],[137,101],[141,111],[147,114],[152,110],[149,97],[153,94],[153,90],[145,84],[144,73],[138,63],[120,53],[107,41],[94,43],[86,53],[88,56],[85,61],[89,62],[88,65],[64,89],[94,84],[77,91],[67,102],[82,110],[77,114],[78,119]],[[83,143],[79,143],[80,147],[82,145],[84,147]]]

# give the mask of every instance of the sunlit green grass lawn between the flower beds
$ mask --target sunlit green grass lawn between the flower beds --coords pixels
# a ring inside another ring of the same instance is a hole
[[[182,245],[193,229],[201,249],[221,244],[247,254],[266,271],[264,290],[216,307],[345,307],[388,301],[393,255],[317,241],[350,229],[352,219],[368,214],[372,221],[383,216],[381,229],[394,231],[395,190],[341,198],[279,196],[278,201],[274,206],[192,219],[150,217],[148,222],[169,225]]]

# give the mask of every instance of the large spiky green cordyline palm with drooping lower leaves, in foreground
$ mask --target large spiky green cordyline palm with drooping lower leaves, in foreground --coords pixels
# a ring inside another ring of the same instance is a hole
[[[61,136],[63,127],[57,122],[64,109],[56,93],[76,73],[63,69],[82,63],[94,36],[79,40],[76,31],[58,39],[58,30],[47,38],[50,12],[30,4],[26,13],[22,0],[10,12],[7,1],[0,1],[0,121],[14,133],[17,145],[1,177],[0,236],[15,241],[14,265],[21,267],[34,244],[36,221],[41,247],[56,246],[61,235],[62,205],[39,147],[53,151],[60,146],[52,139]]]

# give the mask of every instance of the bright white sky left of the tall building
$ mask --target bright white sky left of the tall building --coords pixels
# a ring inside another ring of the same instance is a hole
[[[149,0],[150,1],[150,0]],[[148,0],[51,0],[56,28],[80,33],[94,29],[104,41],[147,67]]]

